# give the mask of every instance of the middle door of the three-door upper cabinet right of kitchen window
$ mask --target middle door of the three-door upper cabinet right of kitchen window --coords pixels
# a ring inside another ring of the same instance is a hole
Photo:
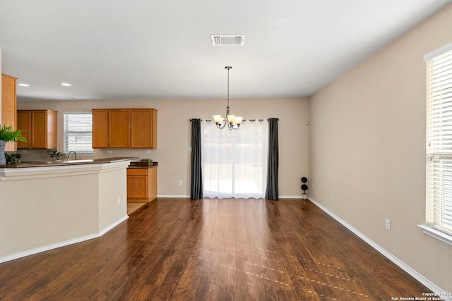
[[[108,147],[129,148],[130,110],[108,110]]]

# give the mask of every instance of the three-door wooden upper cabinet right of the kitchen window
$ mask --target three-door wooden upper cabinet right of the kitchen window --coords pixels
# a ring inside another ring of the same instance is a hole
[[[93,148],[157,148],[157,110],[93,109]]]

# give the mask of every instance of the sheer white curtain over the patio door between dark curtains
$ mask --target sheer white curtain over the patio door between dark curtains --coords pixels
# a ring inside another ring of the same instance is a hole
[[[266,190],[268,123],[244,121],[239,129],[203,122],[203,197],[263,198]]]

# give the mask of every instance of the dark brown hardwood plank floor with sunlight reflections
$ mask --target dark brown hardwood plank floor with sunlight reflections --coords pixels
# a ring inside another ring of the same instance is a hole
[[[0,300],[391,300],[424,285],[307,200],[157,199],[0,264]]]

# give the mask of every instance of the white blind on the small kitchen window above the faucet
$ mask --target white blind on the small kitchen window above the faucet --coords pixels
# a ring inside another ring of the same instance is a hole
[[[64,153],[94,154],[91,112],[64,113]]]

